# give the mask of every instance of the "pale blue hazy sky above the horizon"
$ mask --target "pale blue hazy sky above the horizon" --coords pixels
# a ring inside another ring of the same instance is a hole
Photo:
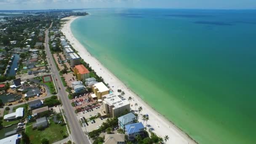
[[[0,0],[0,10],[73,8],[256,9],[256,0]]]

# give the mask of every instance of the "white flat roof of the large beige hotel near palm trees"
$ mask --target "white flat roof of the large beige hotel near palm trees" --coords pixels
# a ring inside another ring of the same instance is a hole
[[[103,98],[104,101],[107,102],[107,104],[109,106],[114,106],[116,108],[119,108],[119,107],[123,107],[127,104],[130,104],[127,100],[122,100],[120,99],[120,97],[118,97],[117,95],[115,95],[115,93],[110,93],[110,94],[107,94],[107,95],[104,95]]]

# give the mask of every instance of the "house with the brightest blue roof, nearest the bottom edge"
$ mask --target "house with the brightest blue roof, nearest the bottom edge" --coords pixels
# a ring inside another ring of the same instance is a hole
[[[125,133],[128,135],[129,141],[133,141],[137,135],[143,135],[144,128],[141,122],[125,125]]]

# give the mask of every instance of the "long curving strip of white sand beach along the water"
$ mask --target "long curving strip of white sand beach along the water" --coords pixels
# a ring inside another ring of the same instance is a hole
[[[131,109],[135,109],[134,104],[137,103],[138,107],[142,107],[143,110],[141,114],[148,114],[149,120],[147,122],[148,125],[151,125],[151,128],[154,128],[153,132],[157,134],[157,136],[161,136],[162,138],[165,135],[169,136],[169,140],[166,144],[197,144],[195,140],[193,140],[187,133],[182,131],[176,125],[174,125],[170,120],[168,120],[165,116],[161,115],[160,112],[157,112],[154,108],[150,107],[146,101],[142,100],[138,94],[134,93],[130,90],[118,77],[116,77],[112,72],[109,71],[106,67],[104,67],[101,62],[93,57],[91,53],[87,51],[87,49],[73,36],[71,31],[71,23],[79,18],[80,16],[70,16],[63,18],[66,23],[61,28],[61,32],[66,36],[67,40],[69,40],[70,45],[78,51],[78,54],[85,62],[90,64],[92,69],[101,77],[103,77],[106,83],[109,83],[109,86],[112,88],[115,93],[117,93],[117,89],[121,89],[125,92],[125,98],[128,99],[128,96],[133,98],[131,101]],[[114,87],[112,87],[114,86]],[[139,116],[139,121],[141,120],[141,116]],[[149,129],[149,128],[147,128]]]

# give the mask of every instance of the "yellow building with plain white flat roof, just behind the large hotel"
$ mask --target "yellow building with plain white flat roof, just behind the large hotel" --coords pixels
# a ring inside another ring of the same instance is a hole
[[[101,99],[101,96],[104,96],[106,94],[109,94],[109,88],[107,88],[104,83],[96,83],[92,86],[93,94],[91,94],[92,98],[98,98]]]

